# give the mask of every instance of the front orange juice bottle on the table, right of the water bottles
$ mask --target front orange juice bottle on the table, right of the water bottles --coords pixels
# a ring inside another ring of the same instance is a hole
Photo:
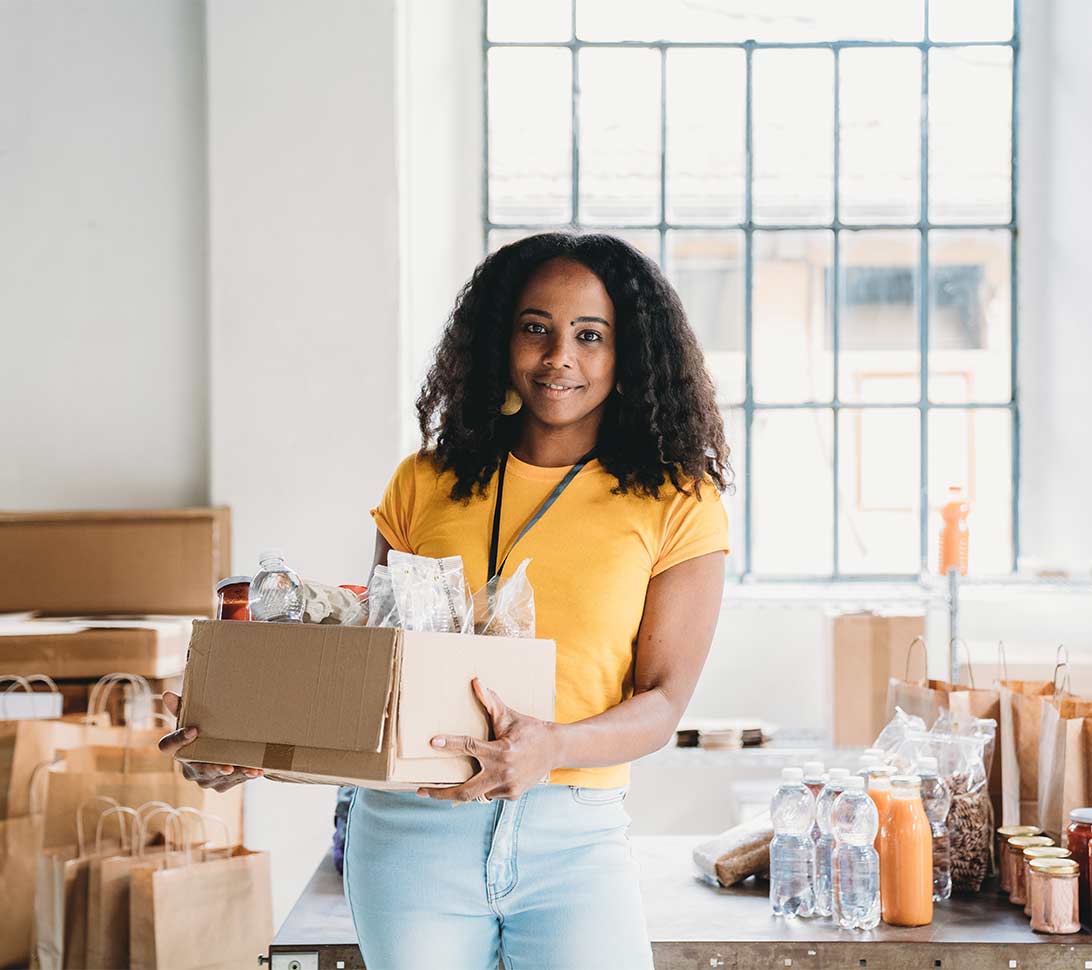
[[[891,779],[887,818],[880,821],[880,907],[892,926],[933,922],[933,829],[916,774]]]

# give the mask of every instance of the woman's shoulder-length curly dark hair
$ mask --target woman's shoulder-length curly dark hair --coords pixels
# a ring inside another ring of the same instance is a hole
[[[454,472],[451,498],[483,495],[515,440],[519,418],[500,414],[511,383],[515,303],[535,271],[557,258],[595,273],[614,303],[616,374],[625,393],[607,398],[596,452],[618,480],[614,490],[658,498],[667,478],[701,498],[705,475],[717,492],[733,488],[713,381],[660,268],[616,236],[542,233],[505,246],[474,270],[417,398],[422,453]]]

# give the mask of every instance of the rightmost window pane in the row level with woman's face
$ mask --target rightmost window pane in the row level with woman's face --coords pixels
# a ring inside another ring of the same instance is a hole
[[[1011,236],[929,234],[929,400],[1011,397]]]

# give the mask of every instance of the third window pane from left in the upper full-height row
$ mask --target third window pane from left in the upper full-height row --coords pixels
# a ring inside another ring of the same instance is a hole
[[[668,222],[744,221],[746,92],[741,50],[667,56]]]

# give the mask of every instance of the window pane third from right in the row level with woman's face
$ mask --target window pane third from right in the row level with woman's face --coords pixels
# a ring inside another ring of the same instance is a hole
[[[834,236],[827,230],[755,233],[752,375],[755,399],[829,401],[833,355],[827,345]]]

